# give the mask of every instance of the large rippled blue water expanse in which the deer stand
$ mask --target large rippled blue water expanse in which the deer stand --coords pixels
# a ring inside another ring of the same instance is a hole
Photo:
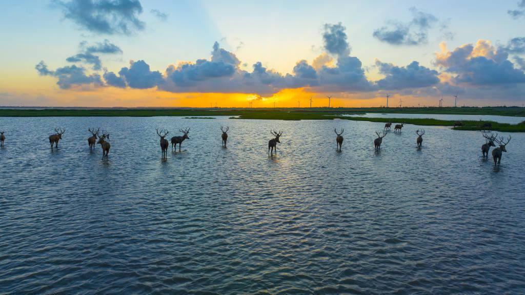
[[[0,118],[0,293],[525,292],[525,134],[495,168],[480,132],[450,128],[417,150],[406,125],[375,153],[383,125]],[[191,128],[166,161],[160,127]]]

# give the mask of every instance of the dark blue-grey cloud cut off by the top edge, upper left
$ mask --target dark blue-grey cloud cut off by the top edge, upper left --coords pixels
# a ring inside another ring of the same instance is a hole
[[[64,17],[96,34],[131,35],[144,29],[139,0],[54,0]]]

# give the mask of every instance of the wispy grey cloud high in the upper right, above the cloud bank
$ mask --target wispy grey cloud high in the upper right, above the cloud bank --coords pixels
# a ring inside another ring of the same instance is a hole
[[[375,29],[373,36],[391,45],[419,45],[427,43],[428,30],[438,22],[437,17],[421,12],[415,7],[411,7],[410,12],[412,13],[410,22],[403,23],[390,20],[386,26]],[[450,35],[451,32],[447,34]]]

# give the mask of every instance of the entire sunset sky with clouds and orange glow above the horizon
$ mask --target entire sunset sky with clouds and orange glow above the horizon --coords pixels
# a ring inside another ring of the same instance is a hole
[[[525,0],[0,3],[0,106],[525,103]]]

